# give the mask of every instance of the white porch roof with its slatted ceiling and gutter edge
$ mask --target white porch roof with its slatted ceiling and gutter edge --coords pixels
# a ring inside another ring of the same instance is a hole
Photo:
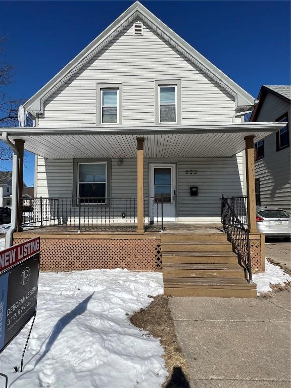
[[[49,159],[134,158],[136,137],[144,137],[146,158],[230,157],[245,149],[245,136],[254,141],[283,128],[284,123],[231,123],[143,127],[0,127],[24,148]]]

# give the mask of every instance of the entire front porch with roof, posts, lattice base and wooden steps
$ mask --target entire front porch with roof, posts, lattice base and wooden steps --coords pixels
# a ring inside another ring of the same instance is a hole
[[[17,129],[26,133],[15,135],[13,242],[40,235],[43,270],[162,270],[167,295],[252,297],[252,269],[262,269],[264,251],[256,231],[254,139],[277,128],[58,129],[61,135],[57,128]],[[29,202],[20,196],[24,147],[40,160]],[[91,174],[83,163],[95,164],[101,178],[80,179]],[[84,196],[82,185],[96,182],[102,195]]]

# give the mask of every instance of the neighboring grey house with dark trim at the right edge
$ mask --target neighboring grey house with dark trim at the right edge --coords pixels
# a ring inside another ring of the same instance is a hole
[[[291,210],[290,185],[291,86],[263,85],[250,121],[286,122],[286,126],[255,144],[256,202]]]

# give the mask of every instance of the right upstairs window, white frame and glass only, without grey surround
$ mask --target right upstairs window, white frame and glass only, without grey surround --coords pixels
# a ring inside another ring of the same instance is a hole
[[[177,85],[159,86],[159,123],[177,123]]]

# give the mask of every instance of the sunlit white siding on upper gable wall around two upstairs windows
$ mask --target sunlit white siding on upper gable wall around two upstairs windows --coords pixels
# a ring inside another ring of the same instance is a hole
[[[95,126],[103,83],[122,84],[122,125],[155,125],[155,79],[181,80],[182,124],[232,122],[232,96],[147,25],[134,36],[131,23],[46,101],[39,126]]]

